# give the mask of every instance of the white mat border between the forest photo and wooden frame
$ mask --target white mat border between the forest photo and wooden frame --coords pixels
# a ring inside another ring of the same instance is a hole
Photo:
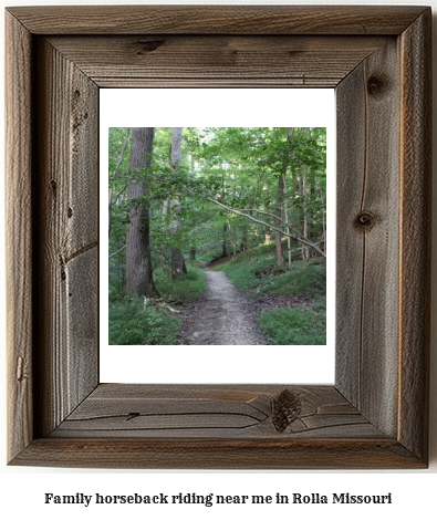
[[[107,232],[107,133],[111,126],[324,126],[327,134],[327,237],[335,250],[335,96],[333,89],[102,89],[101,237]],[[211,100],[214,102],[211,103]],[[126,102],[128,101],[128,102]],[[163,114],[162,107],[166,107]],[[231,110],[223,110],[231,106]],[[253,111],[253,106],[257,110]],[[327,258],[327,345],[107,345],[107,240],[101,241],[102,383],[332,384],[335,266]],[[132,363],[135,360],[135,363]],[[190,362],[187,363],[187,360]],[[250,364],[247,363],[250,360]],[[278,360],[282,360],[278,363]],[[314,360],[318,360],[314,363]],[[180,367],[184,367],[180,370]]]

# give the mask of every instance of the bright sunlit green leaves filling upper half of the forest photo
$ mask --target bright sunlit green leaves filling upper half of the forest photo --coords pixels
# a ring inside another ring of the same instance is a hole
[[[186,252],[220,251],[223,240],[239,247],[244,240],[263,240],[264,229],[205,200],[206,197],[236,209],[272,212],[277,205],[278,179],[285,171],[283,200],[290,222],[300,228],[303,214],[313,239],[322,233],[326,199],[326,129],[295,127],[292,137],[287,127],[186,127],[183,133],[183,160],[169,166],[170,127],[156,128],[152,167],[128,168],[129,144],[121,160],[127,128],[110,128],[110,187],[114,190],[113,228],[110,250],[123,246],[124,232],[135,207],[148,204],[150,237],[155,261],[163,259],[163,247],[179,247]],[[308,190],[303,194],[303,168]],[[147,195],[127,201],[129,181],[147,184]],[[170,236],[170,214],[164,214],[166,200],[181,200],[178,219],[181,229]],[[282,220],[285,220],[283,215]],[[270,225],[273,219],[264,216]],[[227,231],[223,233],[223,226]],[[285,226],[282,222],[281,228]]]

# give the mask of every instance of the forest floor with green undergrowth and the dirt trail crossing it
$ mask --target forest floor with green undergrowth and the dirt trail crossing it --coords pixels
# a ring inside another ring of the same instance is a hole
[[[274,245],[204,256],[173,280],[155,271],[160,298],[110,291],[111,345],[320,345],[326,342],[326,264],[274,262]]]

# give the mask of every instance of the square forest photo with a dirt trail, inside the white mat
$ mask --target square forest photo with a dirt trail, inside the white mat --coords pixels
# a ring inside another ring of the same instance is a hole
[[[326,128],[112,127],[111,345],[326,343]]]

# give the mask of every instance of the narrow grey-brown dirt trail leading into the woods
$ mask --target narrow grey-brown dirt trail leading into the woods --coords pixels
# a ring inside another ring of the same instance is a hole
[[[205,270],[208,288],[183,326],[185,345],[266,345],[248,300],[222,271]]]

